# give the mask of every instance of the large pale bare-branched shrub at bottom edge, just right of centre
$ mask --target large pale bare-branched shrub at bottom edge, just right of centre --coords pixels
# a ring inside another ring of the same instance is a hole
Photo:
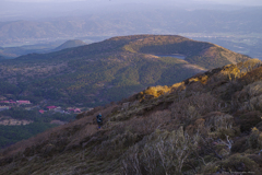
[[[130,172],[128,171],[130,167],[135,167],[135,172],[141,174],[141,166],[143,165],[145,174],[155,174],[156,172],[166,175],[182,174],[183,163],[192,153],[192,150],[196,148],[196,144],[198,137],[189,137],[187,132],[183,132],[182,127],[171,132],[156,130],[147,137],[142,151],[139,151],[138,145],[135,145],[127,152],[123,170]],[[141,156],[138,156],[138,152],[141,152]],[[133,161],[130,161],[130,156]]]

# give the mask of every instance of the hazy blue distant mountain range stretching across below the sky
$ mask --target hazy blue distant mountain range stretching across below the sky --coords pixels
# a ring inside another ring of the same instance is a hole
[[[84,16],[0,22],[0,46],[84,36],[178,33],[261,33],[261,8],[236,11],[132,7]]]

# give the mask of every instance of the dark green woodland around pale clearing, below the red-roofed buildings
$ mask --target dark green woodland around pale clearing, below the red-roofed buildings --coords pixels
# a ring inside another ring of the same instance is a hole
[[[73,120],[75,115],[60,114],[53,112],[46,112],[39,114],[37,109],[25,110],[20,107],[14,107],[9,110],[0,112],[0,116],[9,116],[17,120],[33,121],[28,125],[21,126],[1,126],[0,125],[0,148],[8,147],[17,141],[28,139],[37,133],[44,132],[45,130],[56,127],[51,125],[51,120],[70,121]]]

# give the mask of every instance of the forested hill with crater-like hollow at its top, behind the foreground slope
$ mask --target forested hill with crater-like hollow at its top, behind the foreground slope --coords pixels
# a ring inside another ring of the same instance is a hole
[[[174,54],[186,58],[174,58]],[[119,101],[150,85],[170,85],[205,69],[248,59],[214,44],[176,35],[114,37],[1,61],[0,80],[4,86],[0,85],[0,90],[4,91],[0,95],[37,104],[48,101],[92,107]]]

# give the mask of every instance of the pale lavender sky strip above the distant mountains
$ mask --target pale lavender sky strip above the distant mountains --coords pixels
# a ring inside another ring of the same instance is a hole
[[[97,13],[127,10],[136,7],[183,8],[186,10],[217,8],[234,10],[233,7],[262,5],[262,0],[0,0],[0,21],[37,20],[80,13]],[[141,5],[140,5],[141,4]],[[142,5],[143,4],[143,5]],[[213,5],[213,7],[211,7]],[[228,7],[226,7],[228,5]],[[147,8],[148,9],[148,8]]]

